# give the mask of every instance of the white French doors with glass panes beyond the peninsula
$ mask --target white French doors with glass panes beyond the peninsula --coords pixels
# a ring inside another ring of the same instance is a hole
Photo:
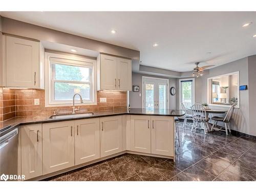
[[[146,111],[168,108],[168,79],[143,77],[143,108]]]

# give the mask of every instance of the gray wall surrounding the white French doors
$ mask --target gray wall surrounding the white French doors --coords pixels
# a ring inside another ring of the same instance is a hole
[[[133,80],[133,86],[139,86],[140,91],[139,92],[129,92],[129,99],[130,99],[130,106],[131,108],[142,108],[142,76],[147,77],[158,77],[158,78],[165,78],[169,79],[169,88],[175,87],[176,88],[176,81],[175,78],[167,78],[167,77],[160,77],[160,76],[153,76],[153,75],[145,75],[140,73],[133,73],[132,74],[132,80]],[[141,97],[139,96],[141,94]],[[176,95],[169,95],[169,109],[176,109]]]

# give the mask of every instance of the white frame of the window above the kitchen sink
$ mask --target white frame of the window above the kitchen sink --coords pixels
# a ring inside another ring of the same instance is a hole
[[[51,106],[72,106],[73,101],[72,100],[61,100],[61,101],[54,101],[54,82],[55,80],[52,78],[52,68],[51,68],[51,62],[60,63],[63,65],[69,66],[86,66],[91,68],[92,70],[92,76],[91,76],[91,82],[82,82],[83,84],[90,84],[90,98],[92,98],[90,101],[83,99],[83,103],[79,102],[79,105],[96,105],[97,104],[97,77],[96,77],[96,60],[93,59],[87,59],[79,56],[68,56],[64,54],[56,54],[56,53],[45,53],[45,69],[46,69],[46,90],[45,90],[45,105],[47,107]],[[58,82],[61,82],[61,80],[57,80]],[[63,80],[62,82],[67,82],[66,80]],[[80,81],[72,81],[74,83],[81,83]],[[79,98],[76,98],[76,100]]]

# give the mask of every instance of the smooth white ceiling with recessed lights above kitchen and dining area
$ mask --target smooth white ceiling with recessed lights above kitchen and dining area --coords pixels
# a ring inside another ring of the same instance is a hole
[[[256,12],[1,12],[2,16],[140,51],[179,72],[256,54]],[[242,28],[246,22],[253,22]],[[116,34],[111,34],[111,30]],[[153,47],[154,43],[159,44]],[[207,53],[210,52],[210,53]]]

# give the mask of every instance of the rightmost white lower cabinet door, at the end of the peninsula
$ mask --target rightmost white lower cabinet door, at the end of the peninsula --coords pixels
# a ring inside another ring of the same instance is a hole
[[[151,153],[174,156],[174,118],[152,116]]]

